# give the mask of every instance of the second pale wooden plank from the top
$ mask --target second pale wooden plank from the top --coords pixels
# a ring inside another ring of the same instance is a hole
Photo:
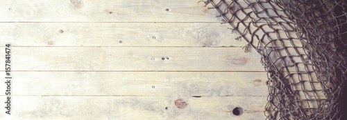
[[[237,46],[220,23],[0,23],[12,46]]]

